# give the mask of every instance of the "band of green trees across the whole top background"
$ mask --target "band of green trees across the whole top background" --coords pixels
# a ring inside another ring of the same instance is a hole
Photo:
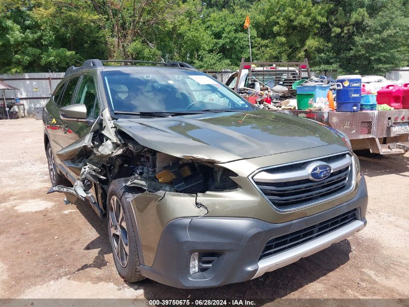
[[[408,65],[409,0],[0,0],[0,72],[63,71],[90,58],[204,70],[297,61],[384,73]]]

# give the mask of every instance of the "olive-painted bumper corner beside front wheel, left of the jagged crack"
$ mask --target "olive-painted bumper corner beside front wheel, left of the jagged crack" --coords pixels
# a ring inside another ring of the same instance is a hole
[[[131,201],[138,225],[145,265],[152,266],[163,229],[171,220],[198,217],[207,214],[204,206],[197,205],[195,194],[159,191],[138,194]]]

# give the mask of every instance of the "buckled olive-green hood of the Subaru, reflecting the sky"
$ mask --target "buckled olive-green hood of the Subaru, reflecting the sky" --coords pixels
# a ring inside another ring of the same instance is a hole
[[[117,119],[114,125],[151,149],[214,163],[343,143],[328,126],[267,110]]]

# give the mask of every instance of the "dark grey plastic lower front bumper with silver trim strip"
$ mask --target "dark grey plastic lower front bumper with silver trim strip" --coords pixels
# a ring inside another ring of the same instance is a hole
[[[206,288],[242,282],[314,254],[348,238],[366,225],[367,190],[361,178],[356,196],[330,210],[294,221],[271,224],[251,218],[195,217],[175,219],[165,227],[151,267],[142,275],[177,288]],[[259,260],[266,243],[357,209],[357,220],[321,237]],[[194,252],[219,255],[205,272],[189,274]]]

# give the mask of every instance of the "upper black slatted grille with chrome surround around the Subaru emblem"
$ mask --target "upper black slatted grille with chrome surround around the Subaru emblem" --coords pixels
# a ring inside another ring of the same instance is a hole
[[[340,161],[345,163],[339,164]],[[308,166],[313,162],[340,165],[328,178],[313,181],[308,178]],[[316,161],[296,162],[269,168],[253,177],[254,183],[270,203],[279,210],[291,210],[308,205],[336,194],[348,191],[352,183],[351,158],[348,154],[320,158]],[[297,174],[292,177],[292,174]],[[301,176],[300,176],[301,174]],[[270,175],[275,175],[273,180]],[[282,177],[283,179],[280,179]]]

